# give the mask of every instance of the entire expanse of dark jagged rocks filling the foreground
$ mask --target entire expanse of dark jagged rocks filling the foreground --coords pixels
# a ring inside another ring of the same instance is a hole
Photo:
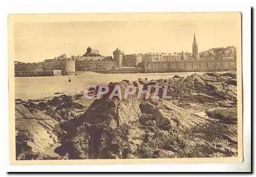
[[[123,80],[109,86],[117,84],[168,85],[172,99],[138,99],[135,94],[129,99],[86,99],[82,93],[16,99],[16,159],[238,155],[236,72]]]

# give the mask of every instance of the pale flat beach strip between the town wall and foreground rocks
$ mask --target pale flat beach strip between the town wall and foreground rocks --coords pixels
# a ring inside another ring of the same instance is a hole
[[[221,71],[225,73],[230,71]],[[235,71],[232,71],[235,72]],[[15,78],[15,99],[40,99],[54,97],[60,92],[66,95],[78,94],[89,85],[108,85],[122,80],[135,81],[139,78],[148,80],[168,79],[175,75],[187,77],[191,74],[206,72],[170,72],[170,73],[132,73],[132,74],[101,74],[83,72],[81,75],[63,75],[56,77],[19,77]],[[69,79],[71,82],[69,82]]]

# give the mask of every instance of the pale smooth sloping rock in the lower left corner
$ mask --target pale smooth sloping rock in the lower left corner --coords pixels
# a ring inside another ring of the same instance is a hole
[[[42,153],[58,141],[58,122],[40,111],[31,113],[23,105],[15,105],[16,158],[26,153]]]

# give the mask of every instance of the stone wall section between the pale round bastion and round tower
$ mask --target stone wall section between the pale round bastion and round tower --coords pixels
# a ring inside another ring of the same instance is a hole
[[[115,66],[115,61],[75,61],[76,71],[108,70]]]

